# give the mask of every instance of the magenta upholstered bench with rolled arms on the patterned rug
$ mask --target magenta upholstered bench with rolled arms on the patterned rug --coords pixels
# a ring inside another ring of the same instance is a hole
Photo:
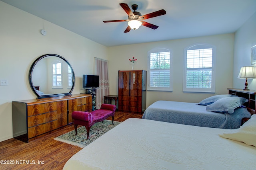
[[[102,104],[100,109],[92,112],[73,111],[72,118],[74,119],[74,126],[77,135],[77,126],[82,125],[86,127],[87,139],[89,138],[90,128],[94,123],[104,121],[112,116],[112,124],[114,125],[116,106],[112,104]]]

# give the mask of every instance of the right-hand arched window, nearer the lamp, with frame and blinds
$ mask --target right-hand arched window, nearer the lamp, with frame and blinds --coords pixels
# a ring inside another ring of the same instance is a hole
[[[184,49],[183,92],[215,93],[215,51],[203,43]]]

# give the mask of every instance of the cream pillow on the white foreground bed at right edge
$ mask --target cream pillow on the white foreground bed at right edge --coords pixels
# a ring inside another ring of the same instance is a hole
[[[234,141],[244,142],[247,145],[256,147],[256,115],[246,121],[240,128],[232,129],[232,133],[219,134],[220,137]]]

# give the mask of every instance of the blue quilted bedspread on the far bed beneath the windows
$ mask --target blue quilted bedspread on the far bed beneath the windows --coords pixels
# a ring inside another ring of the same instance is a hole
[[[157,101],[144,112],[142,119],[170,123],[237,129],[243,117],[251,117],[246,108],[237,108],[234,113],[216,113],[206,111],[206,106],[197,103]]]

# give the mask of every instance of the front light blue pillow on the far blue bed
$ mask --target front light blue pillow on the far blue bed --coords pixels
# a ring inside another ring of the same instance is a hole
[[[217,100],[213,104],[206,106],[206,111],[215,111],[215,112],[224,112],[234,113],[234,109],[242,106],[244,103],[248,102],[246,98],[241,98],[238,96],[234,96],[232,98],[226,97]]]

